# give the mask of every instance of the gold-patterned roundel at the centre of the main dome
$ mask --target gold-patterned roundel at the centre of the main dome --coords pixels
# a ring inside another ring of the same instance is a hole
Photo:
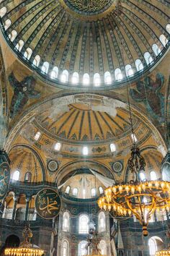
[[[104,9],[110,2],[110,0],[68,0],[68,2],[83,12],[98,12]]]

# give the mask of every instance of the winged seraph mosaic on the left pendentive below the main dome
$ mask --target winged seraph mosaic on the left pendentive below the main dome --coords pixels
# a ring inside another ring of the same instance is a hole
[[[9,82],[14,90],[9,113],[9,117],[13,118],[22,111],[29,99],[40,98],[40,93],[35,90],[36,81],[32,76],[24,77],[24,80],[19,82],[12,72],[9,74]]]

